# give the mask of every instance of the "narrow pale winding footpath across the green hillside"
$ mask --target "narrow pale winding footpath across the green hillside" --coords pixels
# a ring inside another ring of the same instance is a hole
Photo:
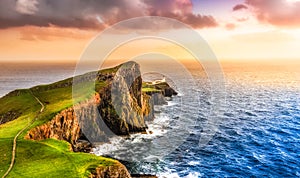
[[[9,165],[9,168],[8,170],[5,172],[5,174],[2,176],[2,178],[5,178],[9,173],[10,171],[12,170],[14,164],[15,164],[15,158],[16,158],[16,148],[17,148],[17,139],[19,137],[19,135],[21,135],[24,130],[26,130],[29,126],[31,126],[34,121],[36,121],[37,117],[44,111],[45,109],[45,105],[36,97],[34,96],[34,94],[32,93],[32,91],[30,91],[31,95],[35,98],[35,100],[42,106],[41,110],[39,113],[37,113],[37,115],[35,116],[34,119],[32,119],[31,122],[29,122],[22,130],[20,130],[17,135],[15,136],[14,138],[14,141],[13,141],[13,149],[12,149],[12,156],[11,156],[11,162],[10,162],[10,165]]]

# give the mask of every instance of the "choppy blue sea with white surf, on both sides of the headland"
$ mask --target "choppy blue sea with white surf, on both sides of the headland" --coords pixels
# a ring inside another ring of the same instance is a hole
[[[0,96],[74,73],[74,64],[6,63],[0,68]],[[179,95],[155,107],[156,118],[148,123],[152,134],[113,137],[93,153],[123,160],[132,173],[159,177],[300,177],[299,68],[224,64],[226,103],[212,118],[217,129],[204,146],[199,140],[215,103],[207,78],[191,68],[193,81],[175,86]]]

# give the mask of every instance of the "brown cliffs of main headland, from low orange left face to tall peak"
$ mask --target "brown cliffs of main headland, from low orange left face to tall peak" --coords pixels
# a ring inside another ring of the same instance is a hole
[[[81,139],[103,142],[112,134],[144,132],[145,121],[154,118],[154,100],[142,94],[139,65],[128,62],[117,72],[100,71],[96,80],[106,85],[96,89],[94,98],[61,111],[48,123],[30,130],[26,138],[66,140],[80,151]]]

